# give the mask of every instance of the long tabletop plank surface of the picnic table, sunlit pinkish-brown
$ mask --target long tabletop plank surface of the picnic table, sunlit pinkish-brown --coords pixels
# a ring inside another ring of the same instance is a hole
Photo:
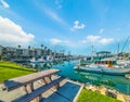
[[[25,75],[25,76],[21,76],[17,78],[12,78],[12,79],[5,80],[4,85],[8,89],[8,91],[11,91],[13,89],[16,89],[18,87],[25,86],[30,82],[34,82],[38,79],[42,79],[43,77],[53,75],[58,72],[60,72],[60,69],[48,69],[48,71],[43,71],[43,72],[39,72],[39,73],[34,73],[34,74],[29,74],[29,75]]]

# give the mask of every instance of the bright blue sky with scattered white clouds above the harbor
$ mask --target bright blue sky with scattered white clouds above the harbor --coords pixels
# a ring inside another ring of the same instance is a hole
[[[0,0],[1,46],[116,53],[129,35],[130,0]]]

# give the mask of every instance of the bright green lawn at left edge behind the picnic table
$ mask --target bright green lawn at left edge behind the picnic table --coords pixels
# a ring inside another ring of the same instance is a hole
[[[23,67],[16,63],[0,61],[0,82],[6,79],[35,73],[36,71]]]

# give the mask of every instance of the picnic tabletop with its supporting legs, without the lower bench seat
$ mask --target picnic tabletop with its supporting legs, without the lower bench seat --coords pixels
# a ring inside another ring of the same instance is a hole
[[[43,72],[39,72],[39,73],[34,73],[34,74],[29,74],[29,75],[25,75],[25,76],[21,76],[17,78],[12,78],[9,80],[4,81],[5,85],[5,89],[8,91],[17,89],[20,87],[24,87],[24,90],[29,93],[31,91],[34,91],[34,81],[42,79],[46,84],[48,84],[47,81],[47,77],[49,78],[49,80],[51,81],[51,75],[58,73],[60,69],[48,69],[48,71],[43,71]],[[28,89],[29,87],[29,89]]]

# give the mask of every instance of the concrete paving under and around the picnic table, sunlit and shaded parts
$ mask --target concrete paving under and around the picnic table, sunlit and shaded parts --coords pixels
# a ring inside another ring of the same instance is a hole
[[[52,78],[55,79],[58,76],[53,76]],[[35,82],[35,88],[38,88],[40,86],[43,86],[41,81]],[[81,88],[81,84],[77,81],[73,81],[70,79],[65,79],[60,84],[61,88],[58,88],[58,91],[54,88],[46,91],[42,93],[43,102],[73,102],[75,100],[78,91]],[[8,92],[2,91],[2,88],[4,86],[0,85],[0,102],[11,102],[12,100],[20,98],[25,94],[23,88],[15,89],[13,91]],[[50,101],[49,101],[50,100]],[[52,101],[51,101],[52,100]]]

